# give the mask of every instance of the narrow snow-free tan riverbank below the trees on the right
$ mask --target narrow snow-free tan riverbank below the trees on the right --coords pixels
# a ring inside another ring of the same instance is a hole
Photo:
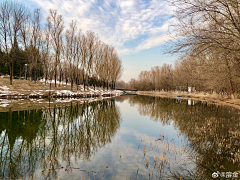
[[[227,96],[220,96],[218,94],[199,93],[199,92],[180,92],[180,91],[137,91],[138,95],[158,96],[164,98],[178,98],[178,99],[192,99],[199,101],[208,101],[220,105],[233,106],[240,109],[240,99],[229,99]]]

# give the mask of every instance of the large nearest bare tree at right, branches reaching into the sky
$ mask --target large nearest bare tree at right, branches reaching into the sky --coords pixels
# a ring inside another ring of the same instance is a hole
[[[171,52],[181,52],[183,56],[191,57],[194,61],[201,59],[201,68],[195,69],[198,72],[192,72],[193,76],[205,72],[202,79],[206,80],[206,89],[230,89],[231,97],[234,98],[236,77],[239,77],[234,67],[239,67],[240,64],[239,1],[170,0],[170,2],[176,7],[175,17],[178,23],[175,27],[179,35]],[[225,73],[221,73],[221,69],[225,69]],[[191,74],[189,70],[188,74]],[[216,79],[218,82],[214,81]]]

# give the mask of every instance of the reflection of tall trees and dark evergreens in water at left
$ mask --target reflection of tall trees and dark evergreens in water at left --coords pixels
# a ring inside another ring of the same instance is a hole
[[[114,100],[39,110],[0,112],[0,178],[57,178],[73,159],[89,160],[120,127]]]

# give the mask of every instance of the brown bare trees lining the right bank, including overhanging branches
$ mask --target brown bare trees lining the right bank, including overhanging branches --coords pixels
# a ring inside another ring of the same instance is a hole
[[[216,91],[232,98],[240,86],[239,0],[169,0],[175,7],[176,37],[168,53],[180,53],[175,64],[143,71],[131,83],[141,90],[178,87]],[[148,80],[148,78],[150,78]]]

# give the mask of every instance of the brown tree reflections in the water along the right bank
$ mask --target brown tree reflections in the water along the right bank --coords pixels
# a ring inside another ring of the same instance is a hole
[[[163,124],[173,122],[175,128],[186,135],[190,144],[187,150],[189,160],[197,166],[190,171],[185,165],[179,165],[171,170],[172,178],[211,179],[213,172],[239,170],[238,109],[206,102],[189,106],[186,100],[148,96],[136,96],[129,101],[137,106],[140,114]]]

